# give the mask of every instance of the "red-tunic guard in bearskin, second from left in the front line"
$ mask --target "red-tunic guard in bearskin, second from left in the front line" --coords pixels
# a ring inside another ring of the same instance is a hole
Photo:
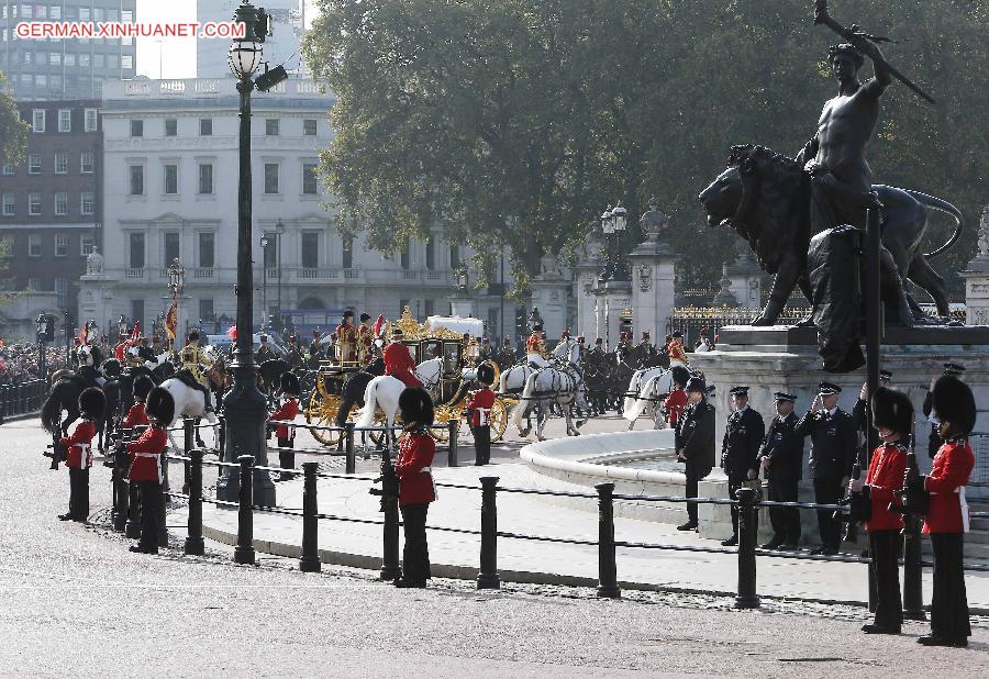
[[[131,552],[157,554],[158,535],[164,519],[162,456],[168,446],[168,433],[165,427],[175,418],[175,401],[167,390],[155,387],[147,394],[145,410],[151,426],[137,437],[137,441],[126,445],[131,457],[131,472],[127,478],[137,487],[137,497],[141,500],[141,539],[131,547]]]

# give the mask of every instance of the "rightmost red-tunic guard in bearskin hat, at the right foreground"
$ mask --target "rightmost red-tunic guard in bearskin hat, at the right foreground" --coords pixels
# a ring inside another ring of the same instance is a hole
[[[968,445],[976,422],[975,397],[968,385],[944,375],[934,382],[931,408],[944,444],[934,456],[931,474],[907,488],[909,504],[924,492],[930,494],[923,532],[931,536],[934,547],[931,634],[916,641],[925,646],[967,646],[971,624],[962,566],[962,535],[968,532],[969,520],[965,487],[975,467],[975,455]]]

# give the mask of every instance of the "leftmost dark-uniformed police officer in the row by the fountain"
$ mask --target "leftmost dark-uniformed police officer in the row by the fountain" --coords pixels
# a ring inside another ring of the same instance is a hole
[[[697,485],[714,468],[714,405],[708,402],[708,388],[699,377],[687,380],[687,409],[677,430],[677,459],[685,463],[686,498],[697,497]],[[687,503],[687,523],[678,531],[697,530],[697,504]]]

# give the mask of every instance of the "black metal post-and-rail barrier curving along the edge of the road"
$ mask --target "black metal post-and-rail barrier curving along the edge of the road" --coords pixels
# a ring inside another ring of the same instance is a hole
[[[171,456],[170,459],[181,460],[187,467],[187,486],[182,493],[168,492],[163,489],[163,493],[170,498],[180,498],[188,501],[188,521],[187,537],[184,550],[187,555],[201,555],[204,550],[202,534],[202,504],[209,503],[216,507],[237,510],[237,543],[234,549],[234,560],[237,564],[254,564],[256,559],[254,547],[254,513],[274,513],[288,516],[297,516],[301,519],[301,554],[299,558],[299,568],[302,571],[314,572],[321,569],[321,559],[319,555],[318,530],[320,521],[335,521],[342,523],[370,524],[379,525],[382,531],[381,545],[381,569],[380,578],[390,580],[401,575],[399,565],[399,510],[398,497],[396,493],[385,492],[381,494],[382,519],[360,519],[356,516],[342,516],[336,514],[325,514],[319,511],[316,482],[319,479],[337,479],[348,480],[353,482],[366,482],[373,487],[374,483],[381,479],[356,476],[353,472],[344,475],[321,474],[319,472],[319,463],[307,461],[302,464],[302,470],[284,469],[281,467],[255,466],[254,457],[240,456],[236,463],[227,463],[222,460],[203,459],[204,450],[191,446],[191,436],[193,424],[191,420],[184,422],[186,432],[186,446],[182,455]],[[300,425],[309,426],[309,425]],[[353,433],[354,427],[347,431]],[[359,430],[357,430],[359,431]],[[369,427],[367,431],[378,431],[384,433],[384,427]],[[382,478],[387,476],[387,471],[391,466],[390,453],[386,447],[381,452],[381,469]],[[114,460],[114,503],[112,510],[113,526],[118,531],[122,531],[127,537],[137,537],[140,532],[140,509],[137,507],[137,498],[133,488],[127,486],[123,470],[126,468],[126,454],[118,453]],[[231,467],[237,468],[240,488],[238,501],[229,502],[216,498],[205,498],[202,492],[202,469],[203,466],[214,466],[218,468]],[[254,503],[254,472],[278,472],[301,475],[303,477],[303,496],[302,508],[285,509],[277,507],[259,507]],[[659,496],[630,496],[614,492],[613,483],[598,483],[594,489],[596,493],[556,491],[556,490],[537,490],[524,488],[509,488],[498,485],[498,477],[482,477],[479,479],[480,487],[467,486],[463,483],[436,482],[438,488],[458,489],[458,490],[479,490],[481,499],[481,516],[479,530],[460,528],[453,526],[430,525],[429,531],[458,533],[465,535],[475,535],[479,538],[479,558],[478,558],[478,589],[498,589],[501,585],[501,578],[498,572],[498,538],[507,539],[526,539],[544,543],[556,543],[567,545],[582,545],[598,550],[598,587],[597,593],[603,598],[621,597],[621,589],[618,580],[618,563],[615,558],[615,549],[634,548],[634,549],[658,549],[667,552],[696,552],[708,554],[734,554],[737,558],[737,588],[734,605],[740,609],[752,609],[759,606],[759,597],[757,592],[756,579],[756,560],[762,558],[785,558],[798,560],[818,560],[818,561],[842,561],[854,564],[870,565],[871,559],[868,557],[857,557],[852,555],[813,555],[793,552],[775,552],[769,549],[760,549],[756,546],[757,538],[757,517],[756,512],[762,508],[797,508],[800,510],[827,510],[827,511],[847,511],[844,505],[836,504],[818,504],[808,502],[770,502],[759,501],[758,494],[751,488],[742,488],[736,493],[736,499],[715,499],[715,498],[681,498],[681,497],[659,497]],[[584,499],[596,501],[598,505],[598,537],[597,539],[560,537],[547,535],[530,535],[524,533],[505,532],[498,530],[498,494],[526,494],[526,496],[551,496],[574,499]],[[614,501],[629,500],[635,502],[666,502],[666,503],[694,503],[694,504],[722,504],[737,508],[738,511],[738,544],[736,548],[715,547],[707,545],[671,545],[655,543],[638,543],[631,541],[618,541],[614,534]],[[164,504],[163,504],[164,507]],[[164,510],[163,510],[164,512]],[[164,515],[160,525],[164,530]],[[918,517],[911,517],[907,522],[905,539],[907,548],[904,550],[903,563],[903,611],[904,616],[922,620],[924,617],[923,595],[921,572],[923,567],[931,567],[933,564],[923,561],[920,548],[920,521]],[[989,567],[966,564],[965,569],[969,571],[989,571]],[[874,588],[869,588],[869,603],[873,606]]]

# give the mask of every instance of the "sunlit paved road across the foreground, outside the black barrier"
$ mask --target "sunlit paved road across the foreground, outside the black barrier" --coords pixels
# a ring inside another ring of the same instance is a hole
[[[49,471],[36,421],[0,427],[0,675],[4,677],[975,675],[968,649],[919,647],[920,624],[866,637],[854,609],[737,612],[705,597],[507,588],[442,580],[395,590],[360,571],[300,574],[165,550],[133,555],[99,525],[65,524],[66,472]],[[93,516],[109,503],[93,474]]]

